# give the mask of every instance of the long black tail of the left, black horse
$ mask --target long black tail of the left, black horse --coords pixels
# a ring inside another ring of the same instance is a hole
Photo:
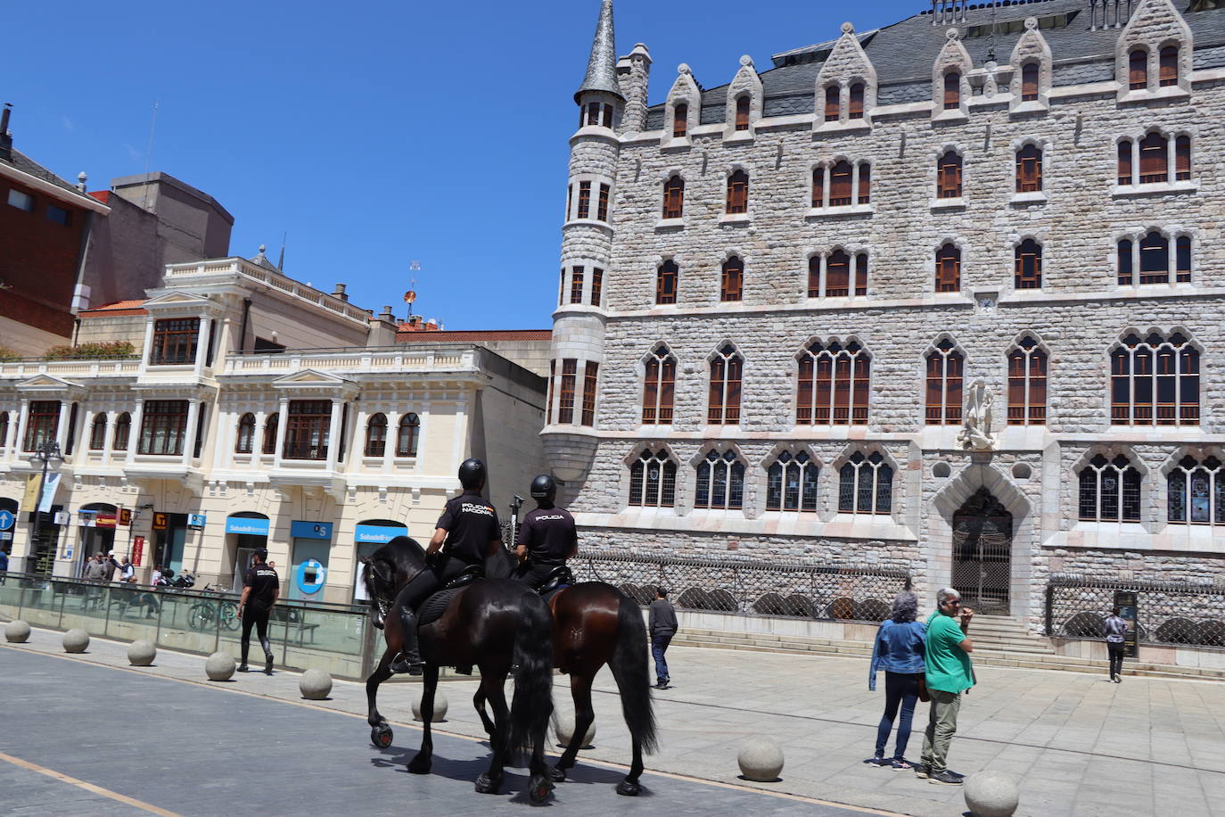
[[[530,751],[552,714],[552,614],[539,595],[523,594],[514,631],[514,697],[507,750]]]

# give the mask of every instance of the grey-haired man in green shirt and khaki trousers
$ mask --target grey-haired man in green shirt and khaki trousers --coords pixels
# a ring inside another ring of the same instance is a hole
[[[962,594],[951,587],[936,593],[936,612],[927,619],[926,681],[931,709],[922,757],[915,774],[932,783],[958,785],[964,775],[951,772],[946,761],[948,745],[957,731],[962,692],[974,686],[974,668],[970,666],[974,643],[967,638],[974,611],[962,609]],[[960,625],[957,622],[958,615]]]

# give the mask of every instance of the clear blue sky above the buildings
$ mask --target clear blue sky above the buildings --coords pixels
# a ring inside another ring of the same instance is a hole
[[[616,0],[617,51],[654,60],[650,102],[679,62],[724,85],[769,55],[918,13],[922,0],[844,4]],[[152,165],[235,217],[230,251],[354,303],[447,328],[543,328],[557,293],[567,138],[598,0],[534,2],[20,4],[0,102],[13,145],[89,189]],[[23,66],[23,69],[17,69]]]

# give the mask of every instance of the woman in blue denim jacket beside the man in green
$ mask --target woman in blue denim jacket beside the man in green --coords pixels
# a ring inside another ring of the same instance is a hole
[[[893,599],[892,615],[881,622],[872,644],[872,664],[867,671],[867,688],[876,692],[876,674],[884,670],[884,714],[876,728],[876,751],[864,761],[872,766],[889,766],[894,769],[913,769],[907,761],[907,744],[910,741],[910,724],[915,714],[915,704],[922,697],[927,701],[924,681],[926,664],[927,626],[916,621],[919,617],[919,597],[910,590],[898,593]],[[893,757],[886,759],[884,745],[893,731],[893,720],[902,709],[898,721],[898,739],[893,747]]]

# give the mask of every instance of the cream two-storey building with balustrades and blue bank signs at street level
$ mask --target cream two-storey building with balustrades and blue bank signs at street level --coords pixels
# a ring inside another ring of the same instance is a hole
[[[262,254],[170,265],[148,295],[81,321],[80,341],[129,339],[138,356],[0,364],[11,570],[76,576],[113,549],[140,551],[138,576],[164,563],[229,589],[266,546],[290,597],[349,601],[360,555],[432,533],[464,458],[486,461],[499,508],[544,470],[545,382],[513,349],[397,343],[390,312]],[[64,462],[34,537],[18,505],[45,439]]]

